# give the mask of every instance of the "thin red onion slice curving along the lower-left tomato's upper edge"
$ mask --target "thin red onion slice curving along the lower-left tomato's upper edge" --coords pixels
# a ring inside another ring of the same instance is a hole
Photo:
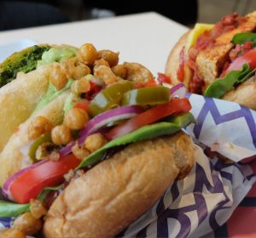
[[[27,170],[31,169],[32,167],[38,167],[39,165],[41,165],[44,162],[46,162],[46,161],[39,161],[38,163],[32,164],[29,167],[25,167],[25,168],[21,169],[19,172],[15,173],[13,176],[7,178],[7,180],[3,184],[3,188],[2,188],[3,196],[6,197],[7,199],[9,199],[10,201],[14,201],[14,198],[11,195],[10,190],[9,190],[11,187],[11,184],[13,184],[15,179],[19,178],[21,174],[25,173]]]

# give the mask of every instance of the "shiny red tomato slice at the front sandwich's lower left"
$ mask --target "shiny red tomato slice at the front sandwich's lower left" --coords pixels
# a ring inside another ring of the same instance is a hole
[[[80,162],[71,154],[62,156],[59,161],[40,163],[16,178],[10,185],[10,192],[18,203],[28,203],[44,188],[61,184],[64,180],[63,175],[70,169],[78,167]]]

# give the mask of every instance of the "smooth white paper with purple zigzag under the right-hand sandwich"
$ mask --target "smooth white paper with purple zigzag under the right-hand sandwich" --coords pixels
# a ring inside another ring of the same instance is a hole
[[[221,99],[188,94],[197,125],[187,131],[234,161],[256,156],[256,111]]]

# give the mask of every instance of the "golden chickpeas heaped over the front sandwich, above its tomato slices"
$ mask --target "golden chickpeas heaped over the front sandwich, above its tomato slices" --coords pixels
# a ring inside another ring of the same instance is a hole
[[[73,78],[75,81],[72,84],[71,91],[73,95],[80,96],[90,90],[90,81],[85,78],[86,75],[93,73],[94,76],[102,81],[102,85],[108,87],[113,83],[124,82],[130,80],[136,83],[145,83],[153,78],[153,75],[146,67],[137,63],[119,64],[119,53],[114,53],[111,50],[100,50],[90,44],[85,43],[75,57],[67,59],[61,63],[52,65],[49,72],[49,81],[57,90],[65,87],[68,78]],[[51,132],[51,139],[56,145],[66,145],[73,140],[73,130],[82,129],[90,117],[88,113],[80,108],[72,108],[64,116],[64,121],[61,125],[52,127],[48,119],[43,116],[38,116],[32,122],[29,128],[29,138],[36,139],[43,133]],[[106,144],[106,139],[100,133],[90,135],[82,146],[76,144],[73,146],[73,154],[79,159],[89,156],[91,152],[99,149]],[[56,156],[47,154],[45,148],[38,148],[40,155],[37,159]],[[44,146],[45,147],[45,146]],[[45,153],[43,153],[43,152]]]

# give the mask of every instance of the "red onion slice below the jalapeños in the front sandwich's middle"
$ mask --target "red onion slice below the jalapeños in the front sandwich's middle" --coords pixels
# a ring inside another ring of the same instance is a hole
[[[103,112],[98,116],[94,117],[90,120],[79,133],[79,144],[83,144],[84,140],[87,136],[92,133],[96,133],[100,128],[107,126],[110,122],[117,122],[119,120],[130,119],[133,116],[137,116],[137,114],[142,113],[144,110],[139,105],[125,105],[119,108],[115,108],[110,111]],[[67,144],[65,148],[63,148],[60,153],[62,156],[67,156],[76,141]]]

